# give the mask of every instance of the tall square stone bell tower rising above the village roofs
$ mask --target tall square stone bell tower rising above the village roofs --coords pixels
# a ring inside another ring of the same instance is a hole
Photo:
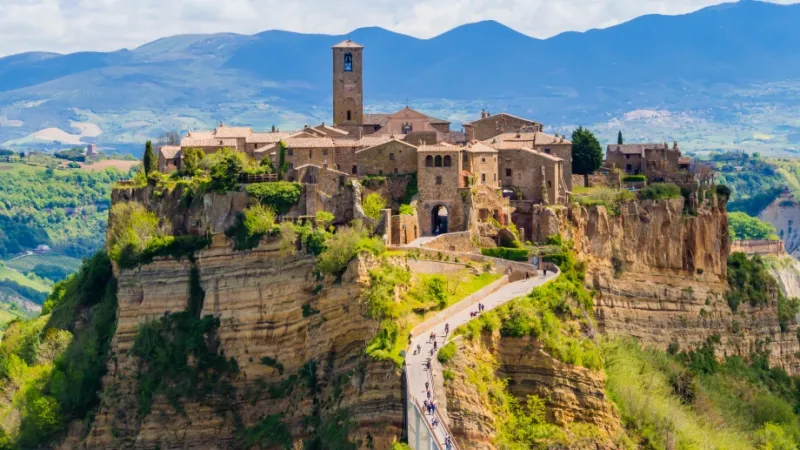
[[[351,40],[333,46],[333,125],[364,123],[364,46]]]

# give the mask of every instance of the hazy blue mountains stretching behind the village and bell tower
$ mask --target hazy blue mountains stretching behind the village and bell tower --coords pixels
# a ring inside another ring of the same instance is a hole
[[[610,133],[628,126],[627,112],[668,109],[677,123],[659,115],[654,140],[692,140],[681,121],[690,120],[698,134],[700,122],[724,132],[720,127],[763,102],[791,115],[800,104],[786,94],[800,80],[798,23],[800,5],[746,1],[543,40],[486,21],[431,39],[382,28],[341,36],[265,31],[173,36],[110,53],[25,53],[0,59],[0,146],[62,139],[31,136],[51,127],[125,148],[162,130],[218,121],[265,128],[329,121],[330,47],[347,37],[366,46],[365,95],[373,110],[399,109],[409,99],[455,122],[487,107],[565,129],[602,123],[601,132],[608,126]],[[751,137],[792,147],[800,124],[771,117],[775,124]],[[103,133],[81,135],[73,128],[81,123]],[[776,126],[785,138],[775,137]]]

